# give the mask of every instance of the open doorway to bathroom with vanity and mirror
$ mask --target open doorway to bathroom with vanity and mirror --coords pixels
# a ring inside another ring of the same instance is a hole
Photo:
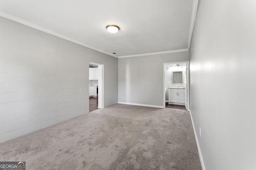
[[[164,107],[189,110],[189,61],[164,63]]]

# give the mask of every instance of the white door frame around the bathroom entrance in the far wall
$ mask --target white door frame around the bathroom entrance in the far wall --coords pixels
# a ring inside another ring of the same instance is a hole
[[[187,101],[188,101],[188,111],[190,110],[190,78],[189,78],[189,75],[190,75],[190,69],[189,69],[189,61],[178,61],[178,62],[172,62],[172,63],[164,63],[164,66],[163,66],[163,70],[164,70],[164,82],[163,82],[163,100],[164,100],[164,103],[163,103],[163,107],[165,108],[165,94],[166,94],[166,91],[165,91],[165,68],[166,68],[166,65],[168,64],[179,64],[179,63],[186,63],[187,65]]]

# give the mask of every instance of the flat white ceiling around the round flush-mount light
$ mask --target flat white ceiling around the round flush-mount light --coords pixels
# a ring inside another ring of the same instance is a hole
[[[188,51],[194,1],[0,0],[0,16],[114,57],[134,57]],[[109,33],[109,24],[120,31]]]

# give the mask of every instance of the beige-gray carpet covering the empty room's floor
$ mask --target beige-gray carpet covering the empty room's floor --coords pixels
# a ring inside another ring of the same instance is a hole
[[[27,170],[201,170],[189,112],[116,104],[0,144]]]

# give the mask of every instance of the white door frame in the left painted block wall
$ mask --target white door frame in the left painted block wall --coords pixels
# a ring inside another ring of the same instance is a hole
[[[104,108],[104,65],[89,62],[89,64],[98,66],[98,108]],[[89,78],[88,78],[89,79]]]

